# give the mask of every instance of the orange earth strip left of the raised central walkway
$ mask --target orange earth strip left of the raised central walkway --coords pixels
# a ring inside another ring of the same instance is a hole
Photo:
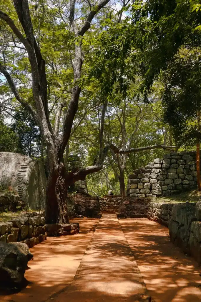
[[[28,262],[25,278],[30,284],[17,294],[4,296],[0,301],[42,302],[66,287],[74,278],[93,232],[88,232],[99,219],[73,219],[80,223],[76,235],[48,237],[30,249],[34,260]]]

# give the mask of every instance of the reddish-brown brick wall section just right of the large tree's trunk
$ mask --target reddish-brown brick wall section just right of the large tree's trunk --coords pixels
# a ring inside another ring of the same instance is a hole
[[[76,214],[87,217],[101,217],[100,203],[96,197],[86,192],[78,192],[74,197]]]

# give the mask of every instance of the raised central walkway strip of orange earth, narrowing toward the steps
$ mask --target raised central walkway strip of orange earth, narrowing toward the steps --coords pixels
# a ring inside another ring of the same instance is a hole
[[[146,286],[115,214],[103,214],[71,284],[48,302],[148,301]]]

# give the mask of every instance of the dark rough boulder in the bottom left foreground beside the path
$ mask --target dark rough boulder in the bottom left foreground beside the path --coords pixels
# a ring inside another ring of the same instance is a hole
[[[25,243],[0,242],[0,282],[21,283],[27,268],[27,262],[33,258]]]

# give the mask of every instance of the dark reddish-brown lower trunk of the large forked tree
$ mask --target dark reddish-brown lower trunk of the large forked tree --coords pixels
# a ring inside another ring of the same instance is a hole
[[[58,171],[50,173],[46,188],[46,223],[68,223],[66,169],[59,164]]]

